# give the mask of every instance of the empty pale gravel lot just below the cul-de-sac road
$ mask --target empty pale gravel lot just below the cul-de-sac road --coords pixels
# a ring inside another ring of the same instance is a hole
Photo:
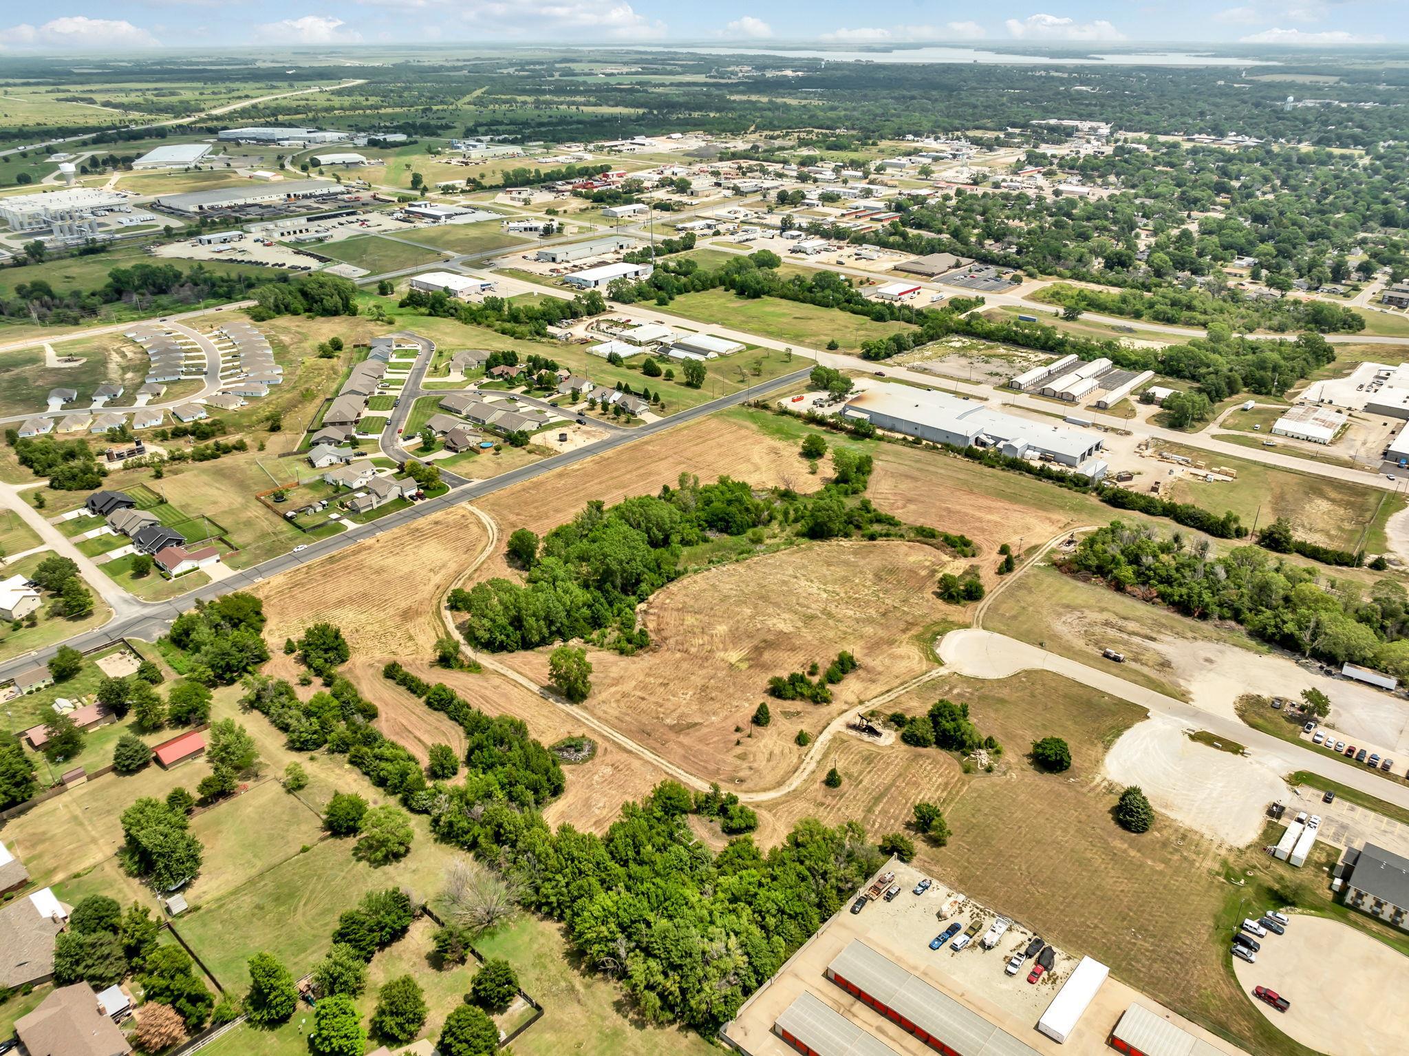
[[[1267,805],[1291,790],[1274,770],[1196,740],[1178,719],[1136,723],[1106,753],[1106,774],[1140,785],[1160,812],[1192,829],[1243,847],[1258,837]]]

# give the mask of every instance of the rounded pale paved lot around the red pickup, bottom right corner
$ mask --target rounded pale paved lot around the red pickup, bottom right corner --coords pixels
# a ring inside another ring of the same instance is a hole
[[[1323,916],[1292,916],[1286,935],[1260,939],[1257,963],[1233,959],[1248,1000],[1277,1029],[1336,1056],[1398,1056],[1406,1024],[1409,957],[1355,928]],[[1291,1001],[1278,1012],[1253,997],[1271,987]],[[1399,994],[1401,997],[1395,997]]]

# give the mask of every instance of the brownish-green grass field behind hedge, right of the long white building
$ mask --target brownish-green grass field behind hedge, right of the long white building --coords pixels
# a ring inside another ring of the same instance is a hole
[[[1165,444],[1165,450],[1189,458],[1209,457],[1179,444]],[[1401,501],[1386,491],[1227,455],[1219,455],[1217,464],[1237,469],[1237,479],[1215,484],[1181,479],[1174,485],[1175,501],[1217,513],[1233,510],[1248,527],[1254,520],[1265,524],[1286,517],[1299,537],[1330,547],[1371,554],[1389,548],[1385,520]]]

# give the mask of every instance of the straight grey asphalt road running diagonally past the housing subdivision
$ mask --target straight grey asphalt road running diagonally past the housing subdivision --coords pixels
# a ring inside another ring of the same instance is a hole
[[[178,615],[186,612],[187,609],[196,608],[197,601],[211,601],[213,598],[218,598],[223,594],[245,589],[248,587],[252,587],[254,584],[268,579],[269,577],[278,575],[279,572],[286,572],[292,568],[309,564],[310,561],[317,561],[321,557],[327,557],[328,554],[334,554],[338,550],[345,550],[349,546],[356,546],[356,543],[359,543],[361,540],[372,536],[379,536],[383,532],[387,532],[389,529],[400,527],[402,524],[409,524],[413,520],[418,520],[420,517],[428,516],[438,510],[448,509],[461,502],[469,502],[482,498],[485,495],[490,495],[492,492],[502,491],[514,484],[521,484],[523,481],[530,481],[534,479],[535,477],[542,477],[544,474],[550,474],[554,469],[559,469],[565,465],[573,465],[575,462],[581,462],[595,455],[604,454],[606,451],[621,447],[624,444],[631,444],[638,440],[644,440],[648,436],[662,433],[666,429],[682,426],[686,422],[693,422],[695,419],[712,415],[716,410],[738,406],[740,403],[754,399],[755,396],[764,392],[793,385],[806,376],[807,376],[806,369],[793,371],[792,374],[786,374],[781,378],[774,378],[772,381],[752,385],[744,389],[743,392],[735,392],[728,396],[721,396],[720,399],[710,400],[709,403],[700,403],[696,407],[682,410],[659,422],[652,422],[647,426],[640,426],[630,431],[623,430],[620,433],[612,433],[610,436],[606,436],[602,440],[596,441],[595,444],[589,444],[588,447],[579,447],[572,451],[564,451],[562,454],[552,455],[551,458],[544,458],[540,462],[534,462],[531,465],[523,465],[517,469],[510,469],[509,472],[502,474],[499,477],[493,477],[488,481],[480,481],[479,484],[466,484],[451,488],[451,491],[445,492],[444,495],[435,499],[427,499],[424,502],[418,502],[414,506],[397,510],[396,513],[390,513],[382,517],[380,520],[373,520],[366,524],[358,524],[349,529],[348,532],[344,532],[340,536],[331,536],[330,539],[318,540],[317,543],[310,543],[309,548],[304,550],[303,553],[280,554],[279,557],[273,557],[268,561],[263,561],[262,564],[238,571],[234,575],[221,579],[220,582],[207,584],[206,587],[201,587],[189,594],[183,594],[179,598],[173,598],[168,602],[144,603],[131,599],[132,603],[141,605],[142,608],[135,612],[128,609],[127,615],[116,616],[106,626],[99,627],[97,630],[87,632],[86,634],[79,634],[76,637],[72,637],[62,644],[73,646],[77,650],[86,651],[90,649],[97,649],[120,637],[131,636],[131,637],[152,640],[163,634],[166,632],[166,625]],[[4,505],[11,505],[15,508],[24,506],[25,503],[23,503],[17,496],[14,496],[13,492],[14,492],[13,488],[8,489],[8,495],[6,493],[6,491],[0,489],[0,496],[7,498],[7,502]],[[99,572],[99,575],[103,579],[107,578],[106,575],[101,575],[101,572]],[[0,664],[0,681],[11,678],[15,673],[23,671],[28,667],[45,663],[51,656],[54,656],[56,649],[58,644],[4,661],[3,664]]]

